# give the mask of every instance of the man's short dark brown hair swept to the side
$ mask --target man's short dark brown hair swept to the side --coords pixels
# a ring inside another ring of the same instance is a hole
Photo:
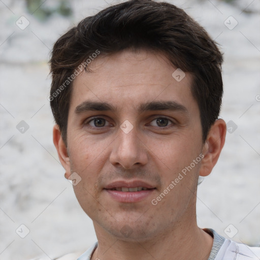
[[[164,53],[174,67],[193,75],[191,92],[200,109],[202,138],[206,140],[219,115],[223,94],[223,58],[216,42],[182,9],[152,0],[132,0],[86,17],[54,44],[50,105],[65,143],[74,71],[82,63],[88,71],[86,60],[96,50],[109,55],[141,48]]]

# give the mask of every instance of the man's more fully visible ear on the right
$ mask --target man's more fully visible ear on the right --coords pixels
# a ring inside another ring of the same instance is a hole
[[[217,119],[211,126],[203,146],[204,158],[200,168],[200,176],[208,176],[215,164],[225,143],[226,124],[222,119]]]

